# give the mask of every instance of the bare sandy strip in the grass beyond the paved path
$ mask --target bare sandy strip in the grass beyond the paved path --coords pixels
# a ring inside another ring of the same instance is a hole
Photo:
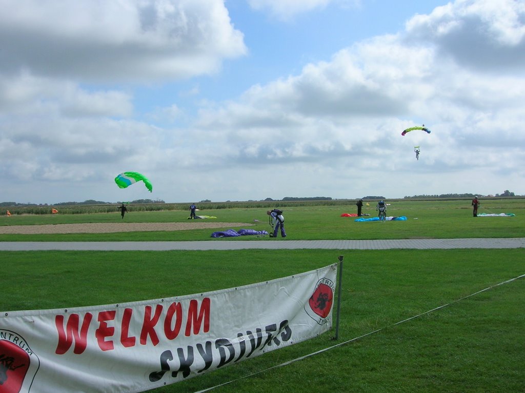
[[[112,233],[112,232],[151,232],[184,231],[190,229],[228,229],[254,224],[240,222],[115,222],[85,224],[50,225],[9,225],[0,226],[0,234],[34,235],[43,233]]]

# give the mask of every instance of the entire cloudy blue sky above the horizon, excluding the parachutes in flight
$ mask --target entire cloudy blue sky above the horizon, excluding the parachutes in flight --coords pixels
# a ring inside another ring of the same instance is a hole
[[[397,3],[0,0],[0,201],[525,194],[525,4]]]

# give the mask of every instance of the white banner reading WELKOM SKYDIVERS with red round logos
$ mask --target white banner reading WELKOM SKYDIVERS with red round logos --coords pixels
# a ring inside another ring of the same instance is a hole
[[[2,312],[0,393],[140,392],[318,336],[337,264],[202,294]]]

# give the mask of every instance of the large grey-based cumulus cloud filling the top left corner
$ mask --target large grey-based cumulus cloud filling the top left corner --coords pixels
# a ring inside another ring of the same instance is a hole
[[[0,47],[4,74],[111,82],[216,73],[246,53],[220,0],[6,0]]]

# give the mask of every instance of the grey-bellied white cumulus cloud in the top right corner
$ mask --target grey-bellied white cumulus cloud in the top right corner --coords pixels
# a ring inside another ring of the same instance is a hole
[[[462,66],[501,73],[523,68],[524,18],[523,2],[459,0],[409,20],[406,39],[432,43]]]

